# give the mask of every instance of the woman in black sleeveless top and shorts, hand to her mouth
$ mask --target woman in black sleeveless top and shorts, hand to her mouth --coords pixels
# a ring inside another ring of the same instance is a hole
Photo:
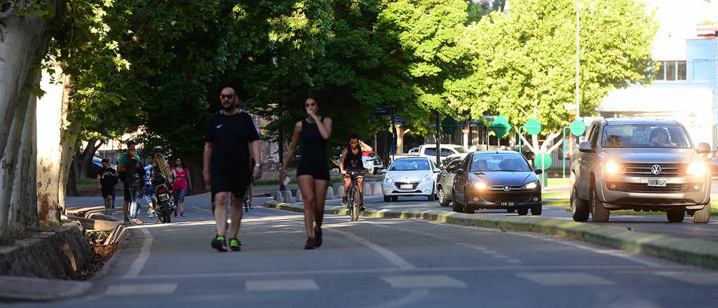
[[[324,203],[329,186],[329,165],[327,164],[327,140],[332,135],[332,119],[319,115],[317,100],[309,97],[304,101],[307,117],[294,125],[294,135],[289,151],[281,166],[279,179],[286,178],[286,165],[294,155],[297,142],[302,141],[302,158],[297,165],[297,181],[304,200],[304,228],[307,243],[304,249],[322,246],[322,220]],[[314,226],[316,223],[316,226]]]

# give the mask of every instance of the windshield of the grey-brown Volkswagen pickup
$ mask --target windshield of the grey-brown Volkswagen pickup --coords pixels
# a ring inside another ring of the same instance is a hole
[[[678,125],[607,125],[603,128],[604,148],[691,148],[686,130]]]

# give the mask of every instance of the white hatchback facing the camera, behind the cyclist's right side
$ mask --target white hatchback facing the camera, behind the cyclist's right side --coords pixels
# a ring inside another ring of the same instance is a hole
[[[439,169],[429,158],[397,158],[384,175],[381,186],[384,201],[398,201],[399,196],[426,196],[429,201],[436,200],[437,173]]]

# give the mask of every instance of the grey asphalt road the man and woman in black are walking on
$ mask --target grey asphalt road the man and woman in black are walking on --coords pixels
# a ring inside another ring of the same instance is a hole
[[[714,307],[718,302],[716,271],[551,236],[427,221],[350,223],[346,216],[327,216],[325,244],[304,251],[301,215],[253,208],[243,221],[243,250],[220,253],[209,245],[214,229],[208,196],[187,201],[186,218],[131,228],[92,280],[89,296],[14,306]]]

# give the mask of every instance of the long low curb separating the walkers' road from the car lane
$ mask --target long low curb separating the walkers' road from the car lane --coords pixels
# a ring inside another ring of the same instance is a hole
[[[265,203],[264,206],[285,211],[304,211],[302,206],[295,206],[289,203],[277,203],[274,201],[269,201]],[[342,206],[327,206],[325,207],[325,213],[346,215],[347,209]],[[378,211],[367,209],[367,211],[361,214],[362,216],[368,217],[417,219],[465,226],[513,229],[551,234],[609,246],[632,253],[656,256],[681,264],[718,269],[718,243],[699,239],[679,239],[672,236],[630,231],[625,228],[597,226],[589,223],[578,223],[566,219],[546,217],[478,216],[476,214],[437,210],[395,211],[388,209]]]

